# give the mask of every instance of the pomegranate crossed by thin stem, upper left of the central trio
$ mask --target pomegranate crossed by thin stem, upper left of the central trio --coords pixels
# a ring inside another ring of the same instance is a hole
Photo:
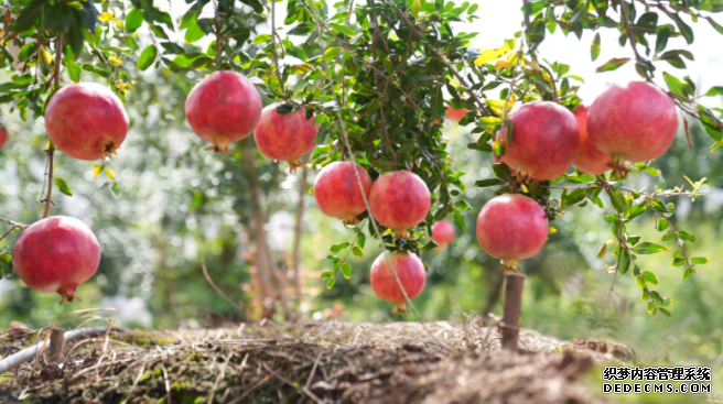
[[[364,193],[354,174],[359,173]],[[358,222],[357,216],[367,208],[364,196],[369,196],[371,177],[363,166],[353,162],[334,162],[322,170],[314,181],[314,199],[326,216],[344,220],[347,225]]]

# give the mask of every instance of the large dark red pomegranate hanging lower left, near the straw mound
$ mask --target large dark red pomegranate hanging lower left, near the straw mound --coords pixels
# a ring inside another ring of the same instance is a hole
[[[50,217],[28,227],[15,243],[13,265],[35,291],[57,292],[73,302],[75,290],[98,270],[100,244],[80,220]]]

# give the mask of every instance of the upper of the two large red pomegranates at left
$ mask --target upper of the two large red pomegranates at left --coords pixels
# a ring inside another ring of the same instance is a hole
[[[55,148],[73,159],[105,159],[126,140],[128,114],[108,87],[72,84],[47,102],[45,130]]]

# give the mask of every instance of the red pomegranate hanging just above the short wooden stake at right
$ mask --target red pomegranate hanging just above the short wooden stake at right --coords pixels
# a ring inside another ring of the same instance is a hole
[[[519,260],[533,256],[548,238],[548,218],[535,200],[505,194],[489,200],[477,216],[477,241],[503,260],[503,271],[519,271]]]

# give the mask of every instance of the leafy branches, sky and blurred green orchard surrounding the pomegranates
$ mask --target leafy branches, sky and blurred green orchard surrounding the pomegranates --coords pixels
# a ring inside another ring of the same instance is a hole
[[[622,3],[626,12],[617,0],[4,1],[0,217],[37,221],[53,186],[51,215],[86,222],[102,258],[78,290],[82,302],[58,306],[56,295],[13,274],[18,233],[7,234],[0,328],[17,320],[36,329],[98,307],[144,329],[485,318],[501,313],[503,275],[477,243],[476,216],[512,188],[554,218],[542,251],[521,264],[522,327],[615,340],[641,361],[721,369],[723,2]],[[314,113],[321,129],[307,168],[291,173],[265,157],[253,137],[229,153],[206,150],[184,103],[218,69],[245,74],[263,106]],[[493,138],[512,106],[549,100],[572,110],[611,84],[645,79],[673,97],[680,128],[667,153],[630,164],[626,178],[570,168],[521,186],[494,164]],[[112,89],[130,130],[108,160],[56,151],[48,184],[44,109],[78,81]],[[457,121],[451,108],[471,112]],[[413,299],[421,318],[390,316],[391,305],[371,291],[369,267],[381,249],[370,220],[345,227],[311,195],[319,170],[348,161],[349,150],[374,179],[412,170],[432,193],[410,240],[379,229],[388,249],[418,251],[427,265],[427,286]],[[675,234],[657,230],[663,217]],[[440,220],[456,231],[444,248],[429,240]],[[634,263],[617,248],[622,222],[630,251],[649,243]],[[0,234],[11,229],[0,222]]]

